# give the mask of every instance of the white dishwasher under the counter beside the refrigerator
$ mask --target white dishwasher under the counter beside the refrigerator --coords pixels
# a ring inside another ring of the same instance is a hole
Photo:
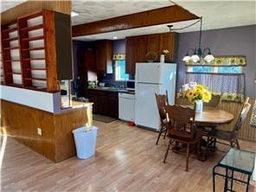
[[[118,93],[118,118],[134,122],[135,118],[135,94]]]

